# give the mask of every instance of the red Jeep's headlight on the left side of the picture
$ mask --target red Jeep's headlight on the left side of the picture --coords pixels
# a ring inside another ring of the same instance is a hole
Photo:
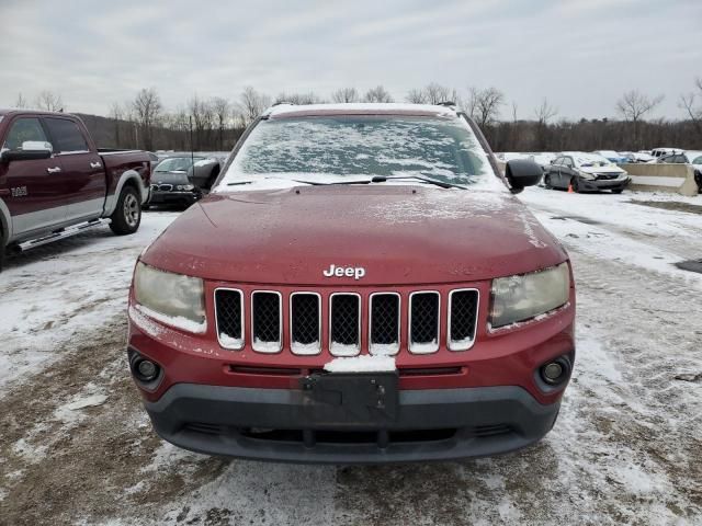
[[[151,318],[190,332],[205,332],[202,279],[163,272],[139,262],[134,273],[134,297]]]

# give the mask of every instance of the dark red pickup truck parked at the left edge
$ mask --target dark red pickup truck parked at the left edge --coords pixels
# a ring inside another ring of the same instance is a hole
[[[110,220],[139,228],[151,174],[144,151],[95,148],[80,118],[0,110],[0,268],[8,248],[27,250]]]

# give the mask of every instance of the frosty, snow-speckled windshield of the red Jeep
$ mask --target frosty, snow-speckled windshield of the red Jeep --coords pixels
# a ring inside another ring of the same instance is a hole
[[[373,176],[502,185],[457,117],[343,115],[261,121],[219,187],[264,178],[324,183]]]

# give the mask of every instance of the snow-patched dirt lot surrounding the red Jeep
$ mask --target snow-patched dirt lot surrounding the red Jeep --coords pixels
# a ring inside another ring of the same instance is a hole
[[[125,290],[174,213],[12,258],[0,524],[702,524],[702,275],[673,265],[701,256],[702,217],[632,197],[676,201],[523,194],[574,261],[575,377],[540,444],[460,462],[259,464],[156,437],[126,367]]]

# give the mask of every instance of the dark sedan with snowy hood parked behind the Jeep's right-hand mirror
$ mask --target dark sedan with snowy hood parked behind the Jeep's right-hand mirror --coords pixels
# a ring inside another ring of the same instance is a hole
[[[544,173],[546,188],[574,192],[611,190],[621,194],[631,182],[625,170],[596,153],[565,151],[556,156]]]

